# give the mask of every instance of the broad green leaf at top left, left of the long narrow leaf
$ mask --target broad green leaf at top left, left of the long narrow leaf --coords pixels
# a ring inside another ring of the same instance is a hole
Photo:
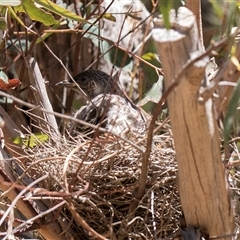
[[[38,8],[32,0],[23,0],[21,5],[14,7],[14,10],[26,13],[32,20],[41,22],[45,26],[58,23],[52,14]]]

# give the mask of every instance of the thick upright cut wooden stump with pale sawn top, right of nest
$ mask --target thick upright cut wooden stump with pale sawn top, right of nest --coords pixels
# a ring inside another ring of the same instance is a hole
[[[208,85],[204,53],[196,19],[187,8],[170,14],[172,28],[160,20],[153,30],[162,62],[165,84],[177,87],[170,93],[168,107],[176,148],[181,205],[187,226],[208,230],[209,236],[233,234],[234,219],[221,162],[220,137],[212,99],[198,101],[199,89]],[[178,76],[178,77],[176,77]],[[219,239],[229,239],[220,237]]]

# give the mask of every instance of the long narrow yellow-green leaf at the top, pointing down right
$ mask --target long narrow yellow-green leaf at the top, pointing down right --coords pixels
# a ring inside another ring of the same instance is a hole
[[[78,22],[84,22],[85,19],[78,16],[75,13],[72,13],[71,11],[62,8],[60,6],[58,6],[57,4],[49,1],[49,0],[35,0],[35,2],[37,4],[39,4],[40,6],[42,6],[43,8],[49,10],[50,12],[53,12],[61,17],[65,17],[65,18],[70,18],[74,21],[78,21]]]

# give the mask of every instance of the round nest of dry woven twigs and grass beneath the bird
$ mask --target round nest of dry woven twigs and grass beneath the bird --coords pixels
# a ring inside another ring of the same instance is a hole
[[[96,239],[92,230],[108,239],[162,239],[172,235],[178,229],[181,206],[168,127],[154,136],[144,195],[136,199],[143,174],[141,150],[146,144],[146,139],[132,144],[131,140],[111,136],[84,140],[79,134],[26,149],[26,174],[34,179],[46,176],[37,183],[41,191],[29,199],[45,199],[48,206],[66,200],[46,217],[64,222],[62,234],[66,239]]]

